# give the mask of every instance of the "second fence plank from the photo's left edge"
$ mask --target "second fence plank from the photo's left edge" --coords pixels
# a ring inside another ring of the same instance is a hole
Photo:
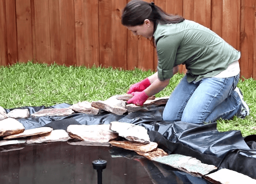
[[[12,65],[18,60],[15,0],[6,1],[6,22],[7,56],[8,63]]]

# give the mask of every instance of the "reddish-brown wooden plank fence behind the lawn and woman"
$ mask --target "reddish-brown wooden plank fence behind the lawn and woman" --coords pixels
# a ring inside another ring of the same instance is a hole
[[[156,69],[157,54],[150,41],[121,25],[128,1],[0,0],[0,65],[33,59],[67,66]],[[155,0],[155,4],[215,31],[241,51],[241,75],[256,79],[256,0]]]

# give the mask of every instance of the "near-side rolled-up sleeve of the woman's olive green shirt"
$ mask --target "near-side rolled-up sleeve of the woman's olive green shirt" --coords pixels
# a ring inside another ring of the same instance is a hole
[[[161,36],[157,40],[158,53],[158,78],[161,81],[171,79],[173,77],[173,67],[180,39],[175,35]]]

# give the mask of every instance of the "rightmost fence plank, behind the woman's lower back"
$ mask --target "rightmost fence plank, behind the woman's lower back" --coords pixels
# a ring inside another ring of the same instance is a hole
[[[254,25],[255,0],[241,0],[241,26],[240,26],[240,51],[242,63],[240,63],[241,75],[250,78],[253,75],[254,63]]]

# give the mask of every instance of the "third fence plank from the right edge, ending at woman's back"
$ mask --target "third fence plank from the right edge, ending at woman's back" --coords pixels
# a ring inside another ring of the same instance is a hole
[[[212,25],[211,29],[222,37],[222,1],[212,0]]]

